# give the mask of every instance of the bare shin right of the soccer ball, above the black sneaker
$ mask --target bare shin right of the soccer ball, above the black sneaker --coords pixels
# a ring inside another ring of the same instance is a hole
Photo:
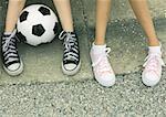
[[[70,0],[53,0],[53,2],[60,15],[63,30],[66,32],[73,32],[73,19]]]

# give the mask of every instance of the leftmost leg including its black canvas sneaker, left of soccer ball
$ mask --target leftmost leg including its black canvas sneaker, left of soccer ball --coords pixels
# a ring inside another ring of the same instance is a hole
[[[8,3],[6,28],[1,40],[1,56],[3,68],[9,75],[19,75],[23,71],[23,64],[18,54],[14,28],[24,3],[25,0],[9,0]]]

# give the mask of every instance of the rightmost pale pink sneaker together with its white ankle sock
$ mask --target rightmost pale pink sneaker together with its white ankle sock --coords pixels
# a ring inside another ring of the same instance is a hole
[[[165,65],[162,60],[160,46],[149,46],[148,56],[145,59],[145,68],[142,74],[143,83],[146,86],[155,86],[162,76],[162,66]]]

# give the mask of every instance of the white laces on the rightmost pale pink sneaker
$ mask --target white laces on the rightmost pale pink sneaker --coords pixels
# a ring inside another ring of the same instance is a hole
[[[148,64],[147,70],[155,71],[156,67],[157,67],[156,61],[158,61],[162,66],[165,66],[165,63],[162,60],[159,54],[149,54],[149,55],[147,55],[143,66],[145,67]]]

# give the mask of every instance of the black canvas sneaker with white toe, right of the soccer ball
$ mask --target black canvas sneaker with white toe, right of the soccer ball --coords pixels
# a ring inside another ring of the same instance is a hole
[[[64,41],[62,71],[66,75],[74,75],[81,67],[79,39],[74,32],[65,31],[61,32],[59,39]]]

